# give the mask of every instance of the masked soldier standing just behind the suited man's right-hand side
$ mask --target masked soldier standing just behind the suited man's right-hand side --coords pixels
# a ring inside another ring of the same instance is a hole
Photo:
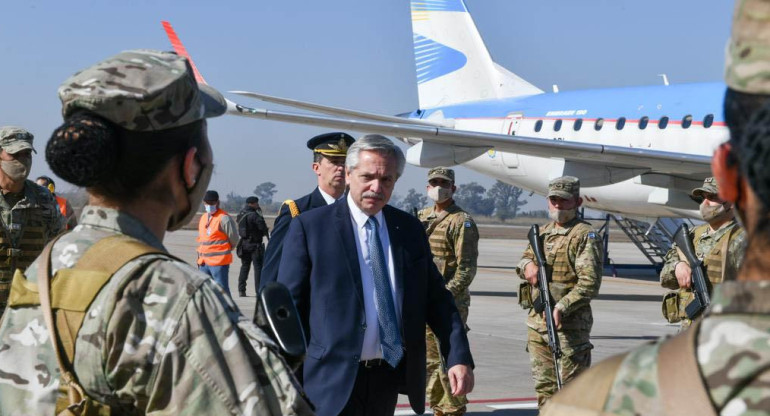
[[[423,209],[417,216],[425,225],[430,251],[446,288],[452,292],[463,323],[468,321],[471,294],[468,289],[476,276],[479,256],[479,231],[467,212],[458,207],[452,195],[456,190],[455,172],[436,167],[428,171],[428,196],[436,205]],[[467,326],[466,326],[467,327]],[[446,369],[441,365],[436,336],[426,327],[428,404],[435,415],[462,415],[468,399],[453,396]]]

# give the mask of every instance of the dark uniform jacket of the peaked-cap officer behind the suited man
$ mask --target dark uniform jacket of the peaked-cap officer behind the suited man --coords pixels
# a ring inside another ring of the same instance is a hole
[[[297,204],[297,209],[299,209],[300,213],[327,205],[326,200],[317,187],[313,192],[294,200],[294,202]],[[262,290],[266,284],[275,282],[275,279],[278,277],[278,266],[281,263],[281,253],[283,252],[283,238],[286,236],[286,231],[289,230],[291,220],[289,206],[286,204],[281,205],[281,209],[278,211],[278,217],[275,218],[275,223],[273,224],[273,232],[270,233],[270,241],[267,243],[267,249],[265,249],[262,274],[259,278],[260,290]]]

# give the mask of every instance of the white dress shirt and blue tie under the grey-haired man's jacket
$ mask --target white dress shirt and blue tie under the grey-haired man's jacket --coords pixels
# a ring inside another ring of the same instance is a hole
[[[364,312],[366,314],[366,329],[364,330],[364,346],[361,350],[361,360],[372,360],[382,358],[382,346],[380,343],[380,322],[377,317],[377,302],[374,296],[374,275],[371,268],[371,259],[369,257],[369,238],[370,232],[366,229],[366,222],[369,216],[366,215],[353,202],[348,194],[348,207],[350,208],[350,221],[353,224],[356,236],[356,250],[358,251],[358,266],[361,269],[361,286],[364,291]],[[379,227],[377,229],[380,235],[380,244],[382,252],[385,254],[385,267],[388,269],[390,278],[390,290],[393,296],[393,306],[396,308],[396,318],[398,327],[401,328],[401,301],[403,294],[397,293],[396,273],[393,267],[393,250],[390,247],[390,236],[388,235],[388,226],[385,224],[385,216],[382,211],[374,215]]]

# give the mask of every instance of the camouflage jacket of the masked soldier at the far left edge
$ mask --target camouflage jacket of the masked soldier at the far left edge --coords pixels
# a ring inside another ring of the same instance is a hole
[[[64,217],[51,193],[26,180],[19,194],[0,194],[0,317],[5,309],[16,268],[24,269],[43,251],[45,244],[64,228]],[[10,241],[9,241],[10,240]],[[9,244],[10,242],[10,244]],[[19,249],[8,257],[8,249]]]

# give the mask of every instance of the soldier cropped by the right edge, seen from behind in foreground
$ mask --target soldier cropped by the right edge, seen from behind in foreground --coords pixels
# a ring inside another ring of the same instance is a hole
[[[711,162],[719,196],[745,225],[735,281],[679,335],[608,358],[541,414],[767,415],[770,411],[770,1],[739,0],[727,50],[728,143]]]

